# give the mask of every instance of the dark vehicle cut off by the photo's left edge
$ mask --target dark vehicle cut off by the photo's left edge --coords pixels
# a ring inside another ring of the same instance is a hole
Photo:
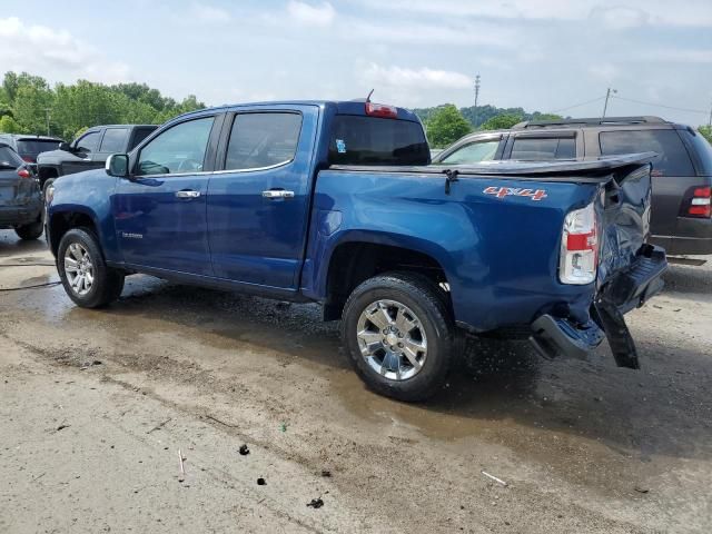
[[[0,228],[21,239],[42,235],[42,196],[34,175],[14,149],[0,144]]]

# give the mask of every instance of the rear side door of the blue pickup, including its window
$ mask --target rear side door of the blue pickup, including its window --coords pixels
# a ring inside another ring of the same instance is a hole
[[[226,119],[208,188],[215,276],[294,289],[304,259],[318,107],[245,108]]]

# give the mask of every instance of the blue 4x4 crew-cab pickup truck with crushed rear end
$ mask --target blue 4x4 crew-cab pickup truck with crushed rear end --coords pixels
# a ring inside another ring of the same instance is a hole
[[[654,154],[431,166],[409,111],[370,101],[226,106],[178,117],[106,169],[57,180],[47,237],[69,297],[125,276],[318,301],[374,390],[421,400],[461,333],[583,358],[662,287],[647,245]]]

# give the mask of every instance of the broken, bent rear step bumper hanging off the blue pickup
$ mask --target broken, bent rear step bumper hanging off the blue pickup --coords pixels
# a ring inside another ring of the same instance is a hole
[[[595,320],[575,325],[566,318],[542,315],[532,323],[532,345],[547,359],[555,356],[585,359],[607,337],[619,367],[640,368],[623,314],[660,293],[666,268],[664,250],[646,245],[629,269],[603,286],[592,309]]]

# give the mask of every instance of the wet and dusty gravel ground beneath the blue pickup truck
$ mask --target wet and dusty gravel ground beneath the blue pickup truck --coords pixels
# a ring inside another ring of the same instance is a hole
[[[0,289],[56,280],[0,231]],[[313,305],[144,276],[103,310],[0,291],[0,532],[708,533],[712,268],[672,266],[627,317],[642,370],[479,343],[405,405]]]

